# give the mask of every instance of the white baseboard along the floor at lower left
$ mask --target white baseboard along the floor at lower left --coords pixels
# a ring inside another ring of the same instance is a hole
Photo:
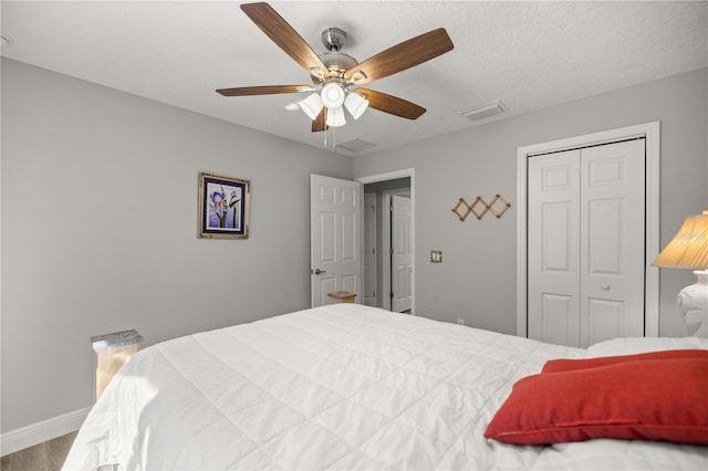
[[[4,457],[79,430],[86,419],[88,410],[91,410],[91,407],[0,435],[0,456]]]

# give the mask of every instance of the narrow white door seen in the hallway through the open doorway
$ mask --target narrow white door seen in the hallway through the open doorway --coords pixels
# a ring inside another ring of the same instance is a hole
[[[391,310],[410,310],[410,198],[394,195],[391,203]]]

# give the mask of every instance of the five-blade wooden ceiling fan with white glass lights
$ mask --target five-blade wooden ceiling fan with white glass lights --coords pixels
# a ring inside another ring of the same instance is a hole
[[[356,119],[367,106],[407,119],[417,119],[426,109],[386,93],[360,85],[405,71],[452,50],[452,41],[444,28],[396,44],[358,63],[340,52],[346,33],[329,28],[322,42],[329,52],[316,54],[298,32],[268,3],[244,3],[241,10],[280,49],[310,73],[312,85],[262,85],[220,88],[223,96],[311,93],[300,107],[312,119],[312,132],[346,123],[344,108]],[[351,87],[356,87],[351,90]]]

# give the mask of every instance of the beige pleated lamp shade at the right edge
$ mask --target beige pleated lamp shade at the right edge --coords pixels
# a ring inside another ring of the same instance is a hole
[[[653,264],[671,269],[708,269],[708,210],[686,218],[674,240]]]

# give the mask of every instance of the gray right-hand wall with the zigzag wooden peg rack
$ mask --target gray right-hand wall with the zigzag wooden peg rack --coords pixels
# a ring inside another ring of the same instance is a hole
[[[355,178],[416,169],[416,313],[516,334],[520,146],[660,121],[660,244],[668,243],[686,216],[708,208],[707,78],[704,69],[355,158]],[[501,219],[460,222],[451,212],[460,197],[496,193],[512,205]],[[442,263],[429,262],[431,249],[442,250]],[[659,333],[684,335],[675,300],[695,276],[663,269],[659,282]]]

